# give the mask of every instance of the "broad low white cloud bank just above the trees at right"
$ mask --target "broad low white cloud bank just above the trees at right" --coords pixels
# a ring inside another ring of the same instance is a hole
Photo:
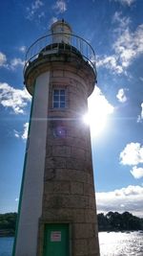
[[[130,185],[111,192],[96,193],[97,211],[129,211],[143,217],[143,187]]]

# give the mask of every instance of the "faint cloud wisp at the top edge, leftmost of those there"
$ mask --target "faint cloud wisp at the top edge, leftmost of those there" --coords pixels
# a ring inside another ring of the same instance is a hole
[[[27,18],[32,19],[35,12],[37,12],[42,6],[44,6],[44,3],[41,0],[35,0],[32,4],[31,7],[27,7]],[[43,12],[42,12],[43,13]],[[42,14],[43,16],[43,14]]]

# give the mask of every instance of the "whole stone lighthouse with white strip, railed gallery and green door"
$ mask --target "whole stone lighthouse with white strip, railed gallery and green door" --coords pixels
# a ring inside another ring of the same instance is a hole
[[[94,52],[64,20],[29,48],[31,120],[13,256],[99,256],[90,129]]]

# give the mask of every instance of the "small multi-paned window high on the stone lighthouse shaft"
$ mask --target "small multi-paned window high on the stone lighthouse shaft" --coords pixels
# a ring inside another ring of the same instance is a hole
[[[65,108],[66,101],[65,101],[65,90],[64,89],[54,89],[53,90],[53,107],[54,108]]]

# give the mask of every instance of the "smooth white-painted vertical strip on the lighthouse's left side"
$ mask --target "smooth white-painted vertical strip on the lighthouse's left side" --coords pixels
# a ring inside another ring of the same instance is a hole
[[[49,83],[50,72],[40,75],[35,82],[15,256],[36,256],[38,221],[42,213]]]

